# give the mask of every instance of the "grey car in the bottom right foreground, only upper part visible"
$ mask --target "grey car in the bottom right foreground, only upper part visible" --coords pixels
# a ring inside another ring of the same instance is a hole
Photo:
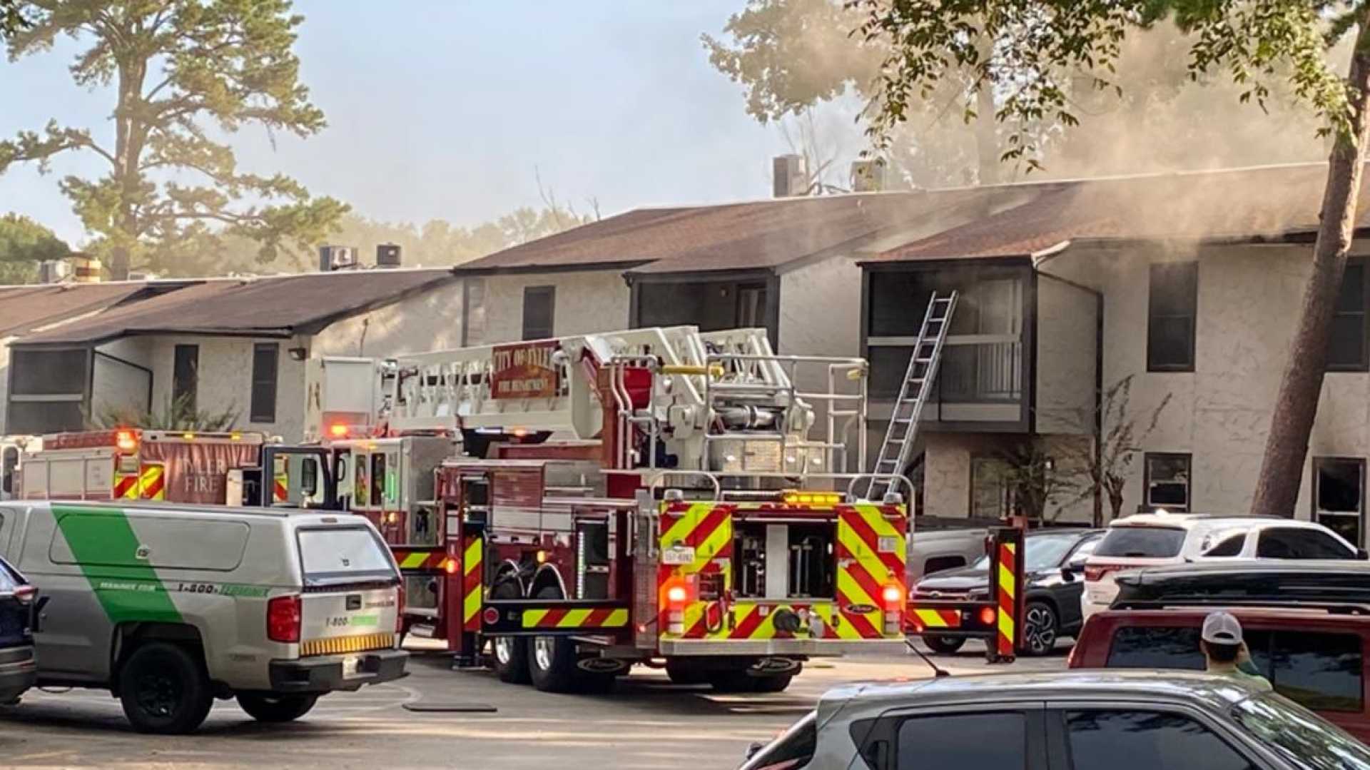
[[[1273,692],[1185,671],[837,688],[743,770],[1334,770],[1370,748]]]

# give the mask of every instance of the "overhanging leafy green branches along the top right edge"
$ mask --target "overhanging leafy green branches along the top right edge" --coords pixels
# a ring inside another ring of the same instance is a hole
[[[870,134],[877,147],[952,77],[970,74],[973,89],[996,95],[993,119],[1007,129],[1006,160],[1040,167],[1041,138],[1033,123],[1073,127],[1071,78],[1122,96],[1118,60],[1140,30],[1171,19],[1189,36],[1192,79],[1226,73],[1238,100],[1265,105],[1275,88],[1314,108],[1328,130],[1351,125],[1347,86],[1326,49],[1348,27],[1356,4],[1326,1],[1214,0],[851,0],[863,10],[862,38],[884,44]],[[988,116],[982,116],[988,118]]]

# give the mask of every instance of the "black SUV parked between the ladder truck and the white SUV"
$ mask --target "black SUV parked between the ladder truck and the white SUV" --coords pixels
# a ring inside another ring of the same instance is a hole
[[[1075,636],[1084,619],[1080,595],[1084,592],[1085,559],[1104,536],[1101,529],[1047,529],[1028,533],[1023,545],[1023,652],[1045,655],[1063,636]],[[918,581],[914,599],[989,599],[989,556],[969,567],[944,570]],[[951,654],[966,637],[923,633],[934,652]]]

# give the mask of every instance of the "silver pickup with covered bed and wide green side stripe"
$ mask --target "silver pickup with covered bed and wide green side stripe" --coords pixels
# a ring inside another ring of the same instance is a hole
[[[141,732],[193,732],[216,696],[286,722],[404,675],[400,573],[362,517],[25,501],[0,527],[52,597],[38,682],[108,689]]]

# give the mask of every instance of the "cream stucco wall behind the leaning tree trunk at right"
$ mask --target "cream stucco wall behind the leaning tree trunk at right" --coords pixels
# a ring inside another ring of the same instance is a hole
[[[1366,244],[1355,249],[1365,253]],[[1147,371],[1148,264],[1199,260],[1195,371]],[[1130,414],[1151,419],[1143,451],[1192,455],[1191,506],[1245,512],[1255,492],[1304,282],[1308,247],[1232,245],[1148,251],[1070,249],[1049,263],[1104,290],[1104,385],[1133,377]],[[1370,375],[1328,373],[1296,515],[1311,515],[1314,456],[1370,455]],[[1123,511],[1143,500],[1143,459],[1132,464]]]

